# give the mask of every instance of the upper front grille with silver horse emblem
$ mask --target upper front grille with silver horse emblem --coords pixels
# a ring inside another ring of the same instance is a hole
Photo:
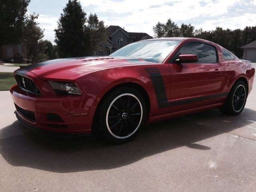
[[[30,78],[21,76],[16,74],[16,81],[18,83],[18,85],[23,89],[26,90],[28,92],[32,92],[32,93],[36,93],[36,94],[41,94],[41,92],[38,90],[36,84],[34,83],[33,80],[31,80]]]

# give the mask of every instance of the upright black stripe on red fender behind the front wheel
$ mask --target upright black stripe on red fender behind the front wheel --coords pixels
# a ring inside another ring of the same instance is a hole
[[[164,80],[158,68],[150,67],[145,68],[145,70],[148,72],[148,75],[152,81],[154,91],[156,93],[158,108],[170,107],[170,103],[168,102],[168,97],[166,95]]]

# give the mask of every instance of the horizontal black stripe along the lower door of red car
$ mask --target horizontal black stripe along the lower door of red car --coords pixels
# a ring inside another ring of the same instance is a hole
[[[174,102],[171,102],[171,106],[190,104],[190,103],[195,103],[195,102],[200,102],[200,101],[204,101],[204,100],[220,98],[220,97],[225,97],[225,96],[228,96],[228,93],[219,93],[219,94],[214,94],[214,95],[209,95],[209,96],[186,99],[186,100],[182,100],[182,101],[174,101]]]

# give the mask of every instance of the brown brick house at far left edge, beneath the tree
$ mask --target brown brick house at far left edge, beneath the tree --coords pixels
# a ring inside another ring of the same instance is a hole
[[[23,62],[27,59],[25,43],[0,46],[0,60],[5,62]]]

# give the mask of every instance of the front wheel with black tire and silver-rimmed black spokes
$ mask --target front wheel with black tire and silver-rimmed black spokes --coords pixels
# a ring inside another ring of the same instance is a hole
[[[122,144],[134,138],[146,117],[146,104],[140,92],[121,87],[110,92],[99,110],[99,131],[108,142]]]

